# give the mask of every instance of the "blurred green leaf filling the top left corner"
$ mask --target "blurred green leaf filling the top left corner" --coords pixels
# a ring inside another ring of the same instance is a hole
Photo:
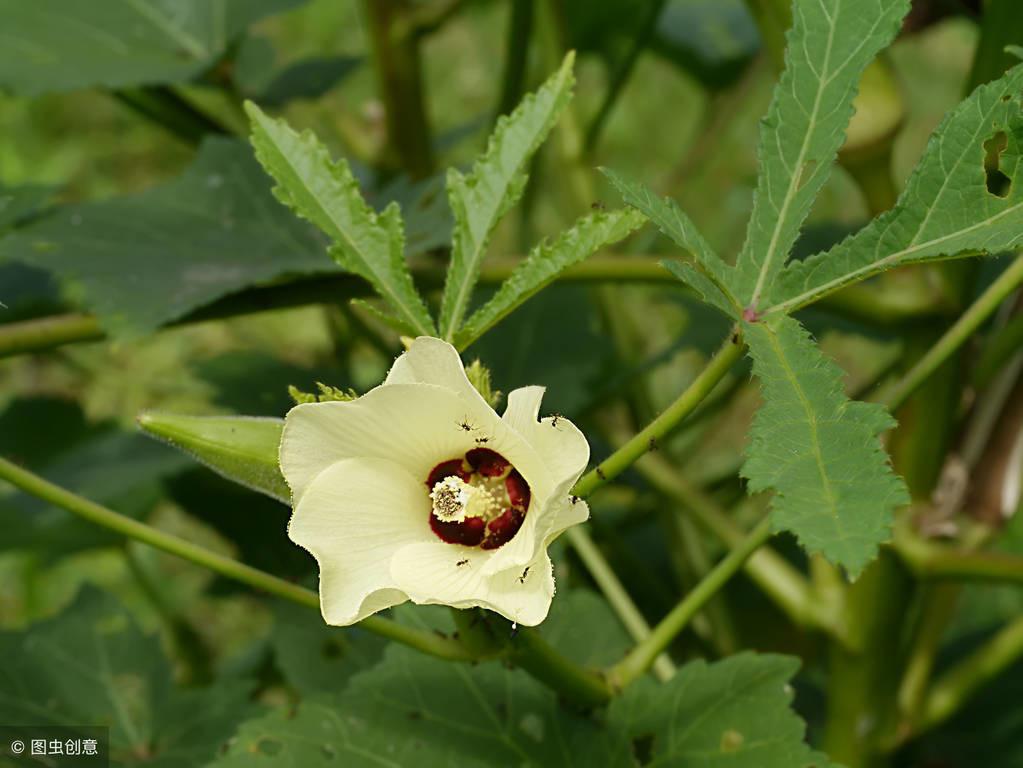
[[[250,24],[304,0],[0,0],[0,91],[190,80]]]

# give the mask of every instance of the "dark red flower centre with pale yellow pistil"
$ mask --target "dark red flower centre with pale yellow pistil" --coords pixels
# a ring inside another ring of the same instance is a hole
[[[497,451],[474,448],[442,461],[427,478],[430,528],[449,544],[497,549],[522,528],[529,484]]]

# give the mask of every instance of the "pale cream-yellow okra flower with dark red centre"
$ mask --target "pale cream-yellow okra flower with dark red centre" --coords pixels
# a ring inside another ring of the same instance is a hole
[[[422,336],[357,400],[288,412],[288,535],[319,563],[328,624],[409,599],[543,621],[547,546],[589,514],[570,496],[589,446],[565,418],[540,418],[542,396],[516,390],[498,416],[455,349]]]

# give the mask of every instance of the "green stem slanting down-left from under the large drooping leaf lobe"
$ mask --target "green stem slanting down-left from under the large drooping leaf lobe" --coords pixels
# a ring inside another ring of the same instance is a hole
[[[654,628],[650,637],[612,668],[609,673],[612,681],[617,686],[624,687],[650,669],[654,660],[685,629],[690,620],[742,570],[743,563],[770,535],[770,521],[765,517]]]

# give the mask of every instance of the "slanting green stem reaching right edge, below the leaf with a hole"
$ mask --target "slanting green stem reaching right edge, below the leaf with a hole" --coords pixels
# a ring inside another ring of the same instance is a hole
[[[963,313],[944,335],[932,346],[894,387],[883,392],[878,402],[895,410],[917,391],[955,351],[966,344],[998,305],[1023,283],[1023,258],[1017,258],[977,301]]]

